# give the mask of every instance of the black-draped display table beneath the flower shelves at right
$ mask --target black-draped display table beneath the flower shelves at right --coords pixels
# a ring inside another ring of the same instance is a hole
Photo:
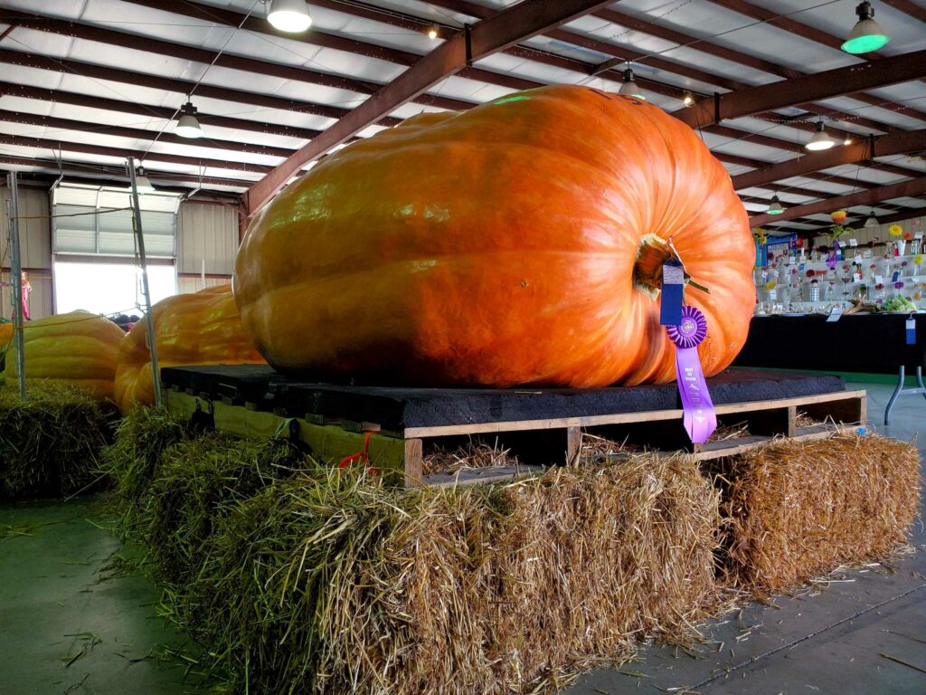
[[[852,314],[836,322],[826,316],[756,316],[745,347],[734,360],[744,367],[811,369],[832,372],[898,374],[884,424],[900,396],[926,397],[922,368],[926,363],[926,314],[914,314],[916,342],[907,345],[909,314]],[[904,388],[907,369],[917,386]]]

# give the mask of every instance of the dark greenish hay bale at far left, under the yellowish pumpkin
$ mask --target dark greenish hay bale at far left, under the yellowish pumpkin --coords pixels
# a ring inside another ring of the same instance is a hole
[[[78,388],[0,389],[0,499],[60,497],[91,486],[111,425]]]

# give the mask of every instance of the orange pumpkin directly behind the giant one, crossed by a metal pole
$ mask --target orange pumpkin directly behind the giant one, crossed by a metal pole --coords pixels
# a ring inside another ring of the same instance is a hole
[[[256,364],[264,360],[244,333],[229,285],[168,297],[152,308],[157,364]],[[143,319],[126,336],[116,366],[116,402],[122,414],[155,402],[155,382]]]

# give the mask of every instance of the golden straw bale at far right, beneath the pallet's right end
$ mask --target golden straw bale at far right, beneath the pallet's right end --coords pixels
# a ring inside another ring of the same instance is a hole
[[[724,579],[760,593],[889,555],[920,507],[919,452],[882,436],[781,440],[712,473],[723,490]]]

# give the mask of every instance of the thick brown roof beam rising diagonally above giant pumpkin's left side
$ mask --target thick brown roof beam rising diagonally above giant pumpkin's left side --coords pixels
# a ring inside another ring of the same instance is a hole
[[[523,0],[492,19],[477,22],[466,35],[455,36],[436,46],[393,82],[248,189],[248,212],[254,214],[307,162],[343,143],[370,123],[380,120],[383,114],[402,106],[433,84],[457,73],[471,61],[490,56],[604,5],[607,5],[607,0],[558,0],[556,3]]]

